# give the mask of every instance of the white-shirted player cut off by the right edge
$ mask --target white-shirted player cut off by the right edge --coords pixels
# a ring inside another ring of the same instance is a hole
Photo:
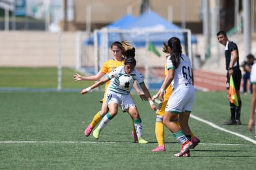
[[[252,84],[252,100],[250,106],[250,119],[248,122],[248,129],[252,131],[252,127],[255,125],[256,112],[256,61],[254,61],[254,65],[252,65],[252,70],[250,72],[250,83]]]

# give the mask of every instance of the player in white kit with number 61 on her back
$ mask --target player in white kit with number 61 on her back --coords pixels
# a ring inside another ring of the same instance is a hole
[[[158,91],[160,101],[164,100],[166,88],[173,82],[173,93],[169,97],[164,111],[163,123],[173,133],[174,137],[182,143],[181,151],[174,156],[189,157],[189,148],[192,147],[186,136],[191,134],[189,116],[195,98],[193,86],[194,78],[189,57],[182,54],[181,41],[177,37],[168,40],[169,56],[166,69],[168,75]],[[174,120],[179,115],[179,125]]]

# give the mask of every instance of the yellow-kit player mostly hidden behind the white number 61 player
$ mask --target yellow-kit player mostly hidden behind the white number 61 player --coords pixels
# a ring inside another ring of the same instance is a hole
[[[164,43],[163,52],[168,53],[167,49],[168,49],[167,45]],[[166,57],[168,57],[168,56],[166,56]],[[168,70],[166,69],[166,64],[165,64],[164,65],[164,77],[166,78],[167,75],[168,75]],[[171,93],[173,93],[173,87],[172,87],[172,85],[169,85],[169,87],[166,88],[166,93],[164,95],[164,101],[158,105],[158,109],[156,110],[155,134],[156,134],[156,140],[158,142],[158,147],[156,147],[152,151],[165,151],[166,150],[165,145],[164,145],[163,116],[164,116],[164,109],[166,108],[166,104],[169,100],[169,97],[171,96]],[[159,95],[160,95],[160,92],[158,91],[158,93],[156,95],[152,96],[152,100],[154,101],[156,98],[158,98]],[[176,122],[176,124],[179,125],[178,117],[175,120],[175,122]],[[190,140],[193,143],[192,148],[197,146],[198,143],[200,142],[200,140],[197,137],[195,137],[195,135],[192,132],[191,132],[191,137],[188,137],[188,138],[190,138]]]

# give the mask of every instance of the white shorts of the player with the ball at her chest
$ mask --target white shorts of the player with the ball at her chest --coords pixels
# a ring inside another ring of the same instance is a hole
[[[117,93],[106,94],[106,104],[117,103],[123,112],[130,107],[136,107],[134,100],[130,95],[123,95]]]

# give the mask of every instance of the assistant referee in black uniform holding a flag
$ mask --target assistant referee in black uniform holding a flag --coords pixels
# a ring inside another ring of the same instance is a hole
[[[240,85],[242,72],[239,68],[239,56],[238,56],[238,48],[236,43],[228,40],[228,36],[226,32],[220,31],[217,33],[218,41],[221,45],[225,46],[225,58],[226,58],[226,70],[227,70],[227,80],[226,87],[228,91],[228,100],[230,101],[231,96],[229,95],[229,78],[232,75],[234,80],[234,85],[236,88],[236,95],[238,99],[239,106],[237,107],[234,103],[229,102],[231,118],[229,121],[224,122],[225,125],[241,125],[240,115],[241,115],[241,107],[242,101],[240,96]]]

